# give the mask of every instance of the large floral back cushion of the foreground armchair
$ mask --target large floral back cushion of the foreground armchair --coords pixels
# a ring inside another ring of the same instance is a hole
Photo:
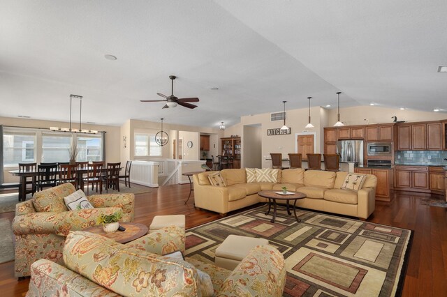
[[[89,232],[68,234],[66,267],[123,296],[197,296],[196,268]]]

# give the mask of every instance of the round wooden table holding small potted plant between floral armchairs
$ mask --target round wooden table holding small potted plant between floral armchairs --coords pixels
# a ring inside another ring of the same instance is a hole
[[[119,226],[126,228],[124,231],[115,231],[113,233],[105,233],[103,226],[96,226],[84,229],[90,233],[98,234],[110,239],[113,239],[117,243],[129,243],[135,241],[135,239],[145,236],[147,234],[147,226],[145,224],[138,223],[119,223]]]

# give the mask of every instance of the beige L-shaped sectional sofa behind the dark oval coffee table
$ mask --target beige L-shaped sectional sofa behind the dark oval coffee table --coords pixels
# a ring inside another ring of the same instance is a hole
[[[367,219],[374,212],[377,178],[366,174],[365,183],[358,192],[343,190],[342,185],[348,172],[326,172],[321,170],[284,169],[277,174],[277,183],[247,183],[245,169],[223,169],[221,176],[226,186],[211,185],[208,175],[217,172],[203,172],[193,176],[194,200],[196,207],[226,215],[229,211],[266,202],[260,197],[261,190],[287,190],[303,192],[305,199],[297,201],[300,208],[350,215]]]

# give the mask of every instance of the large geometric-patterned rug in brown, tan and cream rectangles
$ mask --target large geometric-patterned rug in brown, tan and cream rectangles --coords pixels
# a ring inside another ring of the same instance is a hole
[[[263,237],[286,259],[284,296],[396,296],[402,289],[411,230],[298,211],[279,206],[275,223],[267,206],[186,231],[189,257],[214,263],[230,234]]]

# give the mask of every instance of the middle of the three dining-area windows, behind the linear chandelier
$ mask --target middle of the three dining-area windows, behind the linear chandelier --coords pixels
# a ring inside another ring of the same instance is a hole
[[[42,162],[68,162],[70,160],[71,134],[42,135]]]

